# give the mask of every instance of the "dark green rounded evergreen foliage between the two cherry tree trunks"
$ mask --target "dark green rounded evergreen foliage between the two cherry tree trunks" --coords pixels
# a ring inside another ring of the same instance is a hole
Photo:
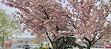
[[[58,48],[62,48],[62,47],[64,47],[64,48],[71,48],[73,45],[72,45],[70,39],[73,40],[73,42],[76,41],[75,37],[66,37],[66,38],[60,37],[59,39],[57,39],[57,41],[55,42],[55,44],[56,44],[56,46]]]

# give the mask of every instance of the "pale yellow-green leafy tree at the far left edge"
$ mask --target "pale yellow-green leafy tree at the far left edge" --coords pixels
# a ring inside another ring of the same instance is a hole
[[[5,14],[4,10],[0,9],[0,41],[2,42],[2,48],[4,46],[4,41],[13,35],[12,31],[15,30],[14,21]]]

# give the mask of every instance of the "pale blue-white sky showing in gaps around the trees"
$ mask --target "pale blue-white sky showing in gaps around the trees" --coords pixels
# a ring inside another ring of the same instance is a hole
[[[1,1],[1,0],[0,0],[0,1]],[[66,4],[69,4],[67,1],[66,1],[65,3],[63,3],[63,2],[61,2],[61,3],[62,3],[62,6],[63,6],[63,7],[66,7],[65,5],[66,5]],[[17,8],[12,8],[12,7],[6,6],[5,4],[2,4],[1,2],[0,2],[0,9],[5,10],[5,11],[6,11],[6,14],[12,14],[12,13],[15,13],[15,11],[20,11],[20,10],[18,10]],[[69,8],[69,9],[71,9],[71,8]],[[107,18],[108,18],[108,20],[111,21],[111,14],[109,14],[109,16],[108,16]],[[23,33],[23,34],[21,35],[21,37],[22,37],[22,38],[32,38],[32,37],[34,37],[34,36],[31,36],[31,34],[30,34],[29,32],[25,31],[25,33]]]

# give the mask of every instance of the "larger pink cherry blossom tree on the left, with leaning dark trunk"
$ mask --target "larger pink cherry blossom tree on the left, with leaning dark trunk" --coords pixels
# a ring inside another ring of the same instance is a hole
[[[60,37],[59,30],[67,30],[68,14],[54,0],[7,0],[2,3],[18,8],[22,13],[17,12],[20,15],[16,16],[17,22],[25,24],[24,30],[36,34],[38,39],[47,37],[53,48],[56,47],[56,39]]]

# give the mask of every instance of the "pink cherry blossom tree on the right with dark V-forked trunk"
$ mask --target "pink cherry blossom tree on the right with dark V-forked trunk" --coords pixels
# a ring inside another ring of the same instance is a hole
[[[59,3],[65,3],[66,0],[58,0]],[[71,27],[74,33],[90,47],[101,39],[105,33],[108,33],[108,27],[105,26],[109,13],[111,12],[110,1],[104,0],[67,0],[69,3],[65,9],[71,19]],[[70,9],[69,9],[70,8]],[[110,33],[110,32],[109,32]]]

